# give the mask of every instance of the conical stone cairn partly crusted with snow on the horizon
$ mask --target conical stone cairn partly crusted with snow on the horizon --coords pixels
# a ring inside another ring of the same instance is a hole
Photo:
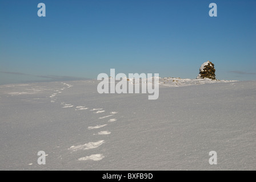
[[[199,75],[197,76],[197,79],[198,78],[209,78],[211,80],[216,80],[214,64],[211,63],[211,61],[206,61],[201,65]]]

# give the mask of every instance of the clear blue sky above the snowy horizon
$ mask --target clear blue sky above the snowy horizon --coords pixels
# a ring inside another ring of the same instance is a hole
[[[46,16],[39,17],[38,3]],[[209,4],[217,4],[217,17]],[[0,84],[159,73],[256,80],[256,1],[0,1]]]

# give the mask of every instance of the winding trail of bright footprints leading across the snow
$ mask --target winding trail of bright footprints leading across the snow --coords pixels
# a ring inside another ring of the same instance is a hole
[[[72,87],[73,85],[69,85],[69,84],[66,84],[64,82],[62,82],[63,85],[67,86],[67,87],[63,87],[59,90],[54,90],[55,93],[53,93],[50,98],[51,98],[51,102],[54,103],[55,101],[57,101],[57,98],[55,96],[57,96],[58,93],[62,93],[62,91],[66,88],[70,88]],[[89,107],[86,107],[86,106],[74,106],[72,104],[67,104],[66,102],[61,102],[61,105],[62,105],[62,108],[73,108],[75,110],[87,110],[89,109]],[[94,108],[94,109],[90,109],[90,111],[92,111],[94,114],[99,114],[99,113],[105,113],[105,110],[103,110],[103,108]],[[115,118],[110,118],[112,117],[114,114],[117,114],[118,111],[111,111],[109,114],[110,115],[105,115],[105,116],[102,116],[102,117],[99,117],[98,119],[102,120],[104,118],[108,118],[107,122],[114,122],[114,121],[117,121],[117,119]],[[107,126],[107,124],[102,124],[102,125],[95,125],[95,126],[89,126],[87,129],[88,130],[95,130],[95,129],[100,129],[102,127],[105,127]],[[109,135],[111,134],[110,131],[99,131],[97,134],[93,134],[93,135]],[[69,147],[67,150],[70,150],[72,152],[75,152],[75,151],[79,151],[79,150],[91,150],[93,148],[97,148],[99,146],[101,146],[103,143],[105,143],[105,140],[99,140],[97,142],[88,142],[88,143],[85,143],[85,144],[80,144],[80,145],[77,145],[77,146],[71,146]],[[85,157],[81,157],[79,158],[78,160],[79,161],[85,161],[85,160],[94,160],[94,161],[97,161],[97,160],[102,160],[103,158],[105,158],[105,156],[103,156],[103,154],[92,154],[90,156],[85,156]]]

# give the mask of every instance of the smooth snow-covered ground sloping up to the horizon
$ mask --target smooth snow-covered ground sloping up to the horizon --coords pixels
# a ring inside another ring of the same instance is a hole
[[[256,169],[256,81],[160,78],[157,100],[98,83],[0,85],[0,169]]]

